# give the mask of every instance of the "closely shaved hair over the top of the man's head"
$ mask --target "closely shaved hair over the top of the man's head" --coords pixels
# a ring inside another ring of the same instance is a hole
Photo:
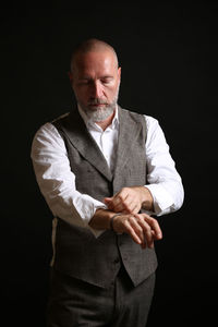
[[[73,72],[74,68],[76,66],[77,60],[81,59],[81,57],[84,57],[88,52],[109,52],[112,55],[114,59],[114,65],[118,68],[118,56],[116,53],[116,50],[107,43],[90,38],[83,43],[81,43],[72,52],[71,56],[71,72]]]

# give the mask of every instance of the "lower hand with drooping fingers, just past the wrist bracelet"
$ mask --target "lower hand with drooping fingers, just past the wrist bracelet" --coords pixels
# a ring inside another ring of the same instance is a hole
[[[143,249],[154,247],[155,240],[161,240],[162,232],[156,219],[146,214],[120,215],[113,219],[117,233],[128,233]]]

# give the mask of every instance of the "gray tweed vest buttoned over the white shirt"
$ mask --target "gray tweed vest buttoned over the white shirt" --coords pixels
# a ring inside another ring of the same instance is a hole
[[[77,110],[53,121],[62,135],[76,179],[76,189],[98,201],[124,186],[146,183],[146,124],[142,114],[119,107],[119,143],[112,175],[98,145]],[[74,278],[107,288],[124,266],[134,286],[156,270],[154,250],[142,250],[128,234],[107,230],[99,238],[58,219],[55,268]]]

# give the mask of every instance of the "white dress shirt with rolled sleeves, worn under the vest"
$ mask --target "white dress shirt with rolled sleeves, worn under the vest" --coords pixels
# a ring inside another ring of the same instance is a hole
[[[111,125],[105,131],[98,124],[89,122],[80,108],[78,111],[113,171],[119,135],[118,110]],[[182,206],[183,186],[158,121],[148,116],[144,118],[147,124],[145,186],[153,195],[155,208],[155,213],[149,214],[161,216]],[[92,229],[88,222],[97,208],[107,206],[104,202],[76,190],[75,175],[70,167],[64,141],[52,123],[46,123],[37,131],[32,145],[32,159],[39,189],[53,216],[89,228],[98,237],[101,232]]]

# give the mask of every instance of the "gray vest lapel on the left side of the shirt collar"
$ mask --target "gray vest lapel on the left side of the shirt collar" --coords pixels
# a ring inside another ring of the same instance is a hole
[[[69,118],[64,123],[64,131],[80,154],[111,181],[112,174],[108,164],[97,143],[88,133],[77,110],[74,110],[69,114]]]

